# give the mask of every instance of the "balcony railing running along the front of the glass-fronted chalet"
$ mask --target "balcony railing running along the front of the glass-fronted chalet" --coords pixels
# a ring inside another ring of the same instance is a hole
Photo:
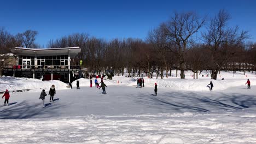
[[[8,70],[68,70],[68,65],[4,65]],[[71,65],[70,69],[80,69],[79,65]]]

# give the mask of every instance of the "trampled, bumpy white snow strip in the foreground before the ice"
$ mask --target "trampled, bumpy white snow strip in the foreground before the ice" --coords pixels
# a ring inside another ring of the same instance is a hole
[[[3,119],[0,143],[256,143],[256,113]]]

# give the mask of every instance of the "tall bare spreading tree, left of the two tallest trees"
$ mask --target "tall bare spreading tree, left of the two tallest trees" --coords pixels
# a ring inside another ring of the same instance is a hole
[[[188,45],[191,43],[192,36],[199,31],[205,24],[205,18],[200,18],[195,13],[175,13],[174,17],[166,23],[166,35],[170,42],[176,44],[176,49],[169,47],[170,50],[179,58],[179,69],[181,70],[181,79],[184,79],[185,53]]]

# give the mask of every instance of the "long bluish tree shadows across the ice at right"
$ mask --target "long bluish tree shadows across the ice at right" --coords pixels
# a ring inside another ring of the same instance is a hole
[[[163,93],[164,97],[153,96],[152,94],[141,94],[135,97],[136,102],[147,105],[160,107],[165,110],[174,110],[176,112],[208,112],[216,110],[238,110],[256,106],[256,97],[246,94],[225,94],[220,93],[220,97],[211,98],[210,95],[204,96],[203,93],[195,92],[170,92]]]

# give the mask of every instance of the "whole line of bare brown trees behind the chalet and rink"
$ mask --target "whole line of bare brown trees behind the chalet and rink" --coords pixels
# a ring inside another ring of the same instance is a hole
[[[147,74],[163,78],[173,75],[184,79],[184,71],[194,72],[194,79],[201,70],[210,70],[217,79],[220,70],[256,71],[256,43],[248,42],[248,31],[229,26],[230,14],[225,10],[212,17],[200,17],[196,13],[174,13],[158,27],[148,32],[145,40],[126,38],[106,41],[90,37],[87,33],[75,33],[50,40],[48,48],[79,46],[82,51],[71,64],[83,66],[90,74],[129,76]],[[10,47],[38,48],[37,31],[25,31],[11,35],[0,29],[1,53]],[[181,71],[177,75],[177,70]],[[256,72],[255,72],[256,73]],[[175,75],[175,74],[174,74]]]

